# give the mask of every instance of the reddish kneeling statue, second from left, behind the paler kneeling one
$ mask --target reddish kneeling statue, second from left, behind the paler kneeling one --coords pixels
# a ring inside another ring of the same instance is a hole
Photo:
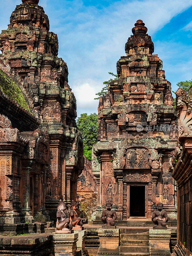
[[[73,230],[82,230],[83,222],[76,211],[79,210],[79,205],[72,201],[71,211],[69,212],[70,223],[73,226]]]

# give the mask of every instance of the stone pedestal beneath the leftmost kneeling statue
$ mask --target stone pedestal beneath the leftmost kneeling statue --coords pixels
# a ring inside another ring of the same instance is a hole
[[[54,234],[53,246],[55,256],[74,256],[77,249],[78,234]]]

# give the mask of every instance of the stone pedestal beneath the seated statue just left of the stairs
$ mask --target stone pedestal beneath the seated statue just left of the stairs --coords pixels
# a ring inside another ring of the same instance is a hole
[[[103,226],[98,229],[100,241],[98,255],[119,255],[119,228]]]

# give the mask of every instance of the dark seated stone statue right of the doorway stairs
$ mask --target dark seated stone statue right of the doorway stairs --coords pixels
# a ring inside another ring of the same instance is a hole
[[[163,211],[163,204],[157,204],[157,210],[152,214],[152,221],[155,224],[154,229],[167,229],[166,222],[168,221],[168,216],[165,211]]]

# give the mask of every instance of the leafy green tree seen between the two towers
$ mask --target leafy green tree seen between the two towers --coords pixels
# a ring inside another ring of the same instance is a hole
[[[83,136],[84,156],[91,160],[92,147],[97,142],[98,137],[98,115],[96,113],[89,116],[87,113],[81,114],[77,119],[77,126]]]

